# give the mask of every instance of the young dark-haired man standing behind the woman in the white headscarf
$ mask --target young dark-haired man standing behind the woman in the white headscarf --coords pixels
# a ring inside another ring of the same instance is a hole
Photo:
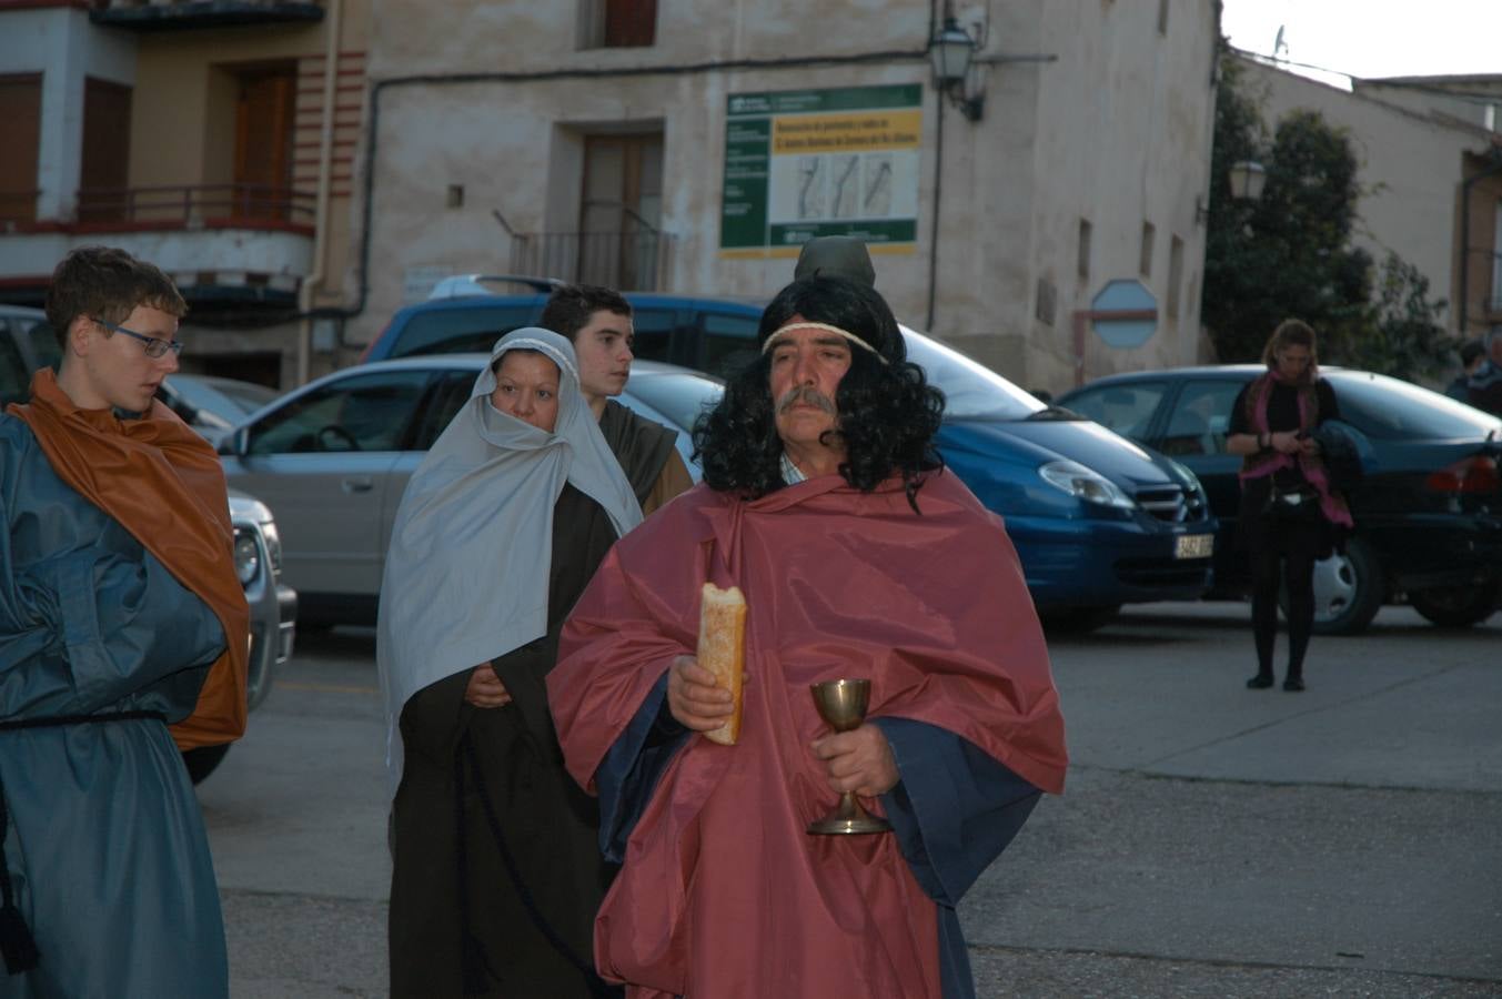
[[[631,479],[643,515],[691,487],[694,479],[674,446],[677,433],[614,400],[631,377],[631,303],[611,288],[566,284],[554,288],[538,323],[574,344],[580,391]]]

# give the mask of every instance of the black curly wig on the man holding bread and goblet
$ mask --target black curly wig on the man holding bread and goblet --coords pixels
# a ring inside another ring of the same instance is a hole
[[[907,502],[918,509],[924,476],[942,467],[933,439],[943,418],[943,394],[924,370],[907,361],[897,318],[874,288],[849,278],[804,278],[778,291],[762,312],[760,344],[793,315],[838,326],[871,344],[852,350],[835,406],[846,446],[844,481],[874,490],[894,473],[903,476]],[[882,362],[886,361],[886,364]],[[760,355],[725,383],[725,394],[694,427],[694,449],[704,482],[751,499],[783,488],[783,440],[777,436],[771,358]]]

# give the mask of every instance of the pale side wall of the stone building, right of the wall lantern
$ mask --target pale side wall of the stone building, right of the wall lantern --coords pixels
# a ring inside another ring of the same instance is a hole
[[[1172,3],[1166,33],[1158,5],[1053,0],[1038,5],[1041,48],[1059,62],[1038,80],[1027,338],[1032,385],[1074,383],[1071,315],[1111,279],[1142,281],[1158,300],[1158,329],[1137,349],[1116,349],[1087,329],[1083,376],[1193,364],[1199,358],[1199,288],[1205,227],[1196,198],[1208,189],[1214,122],[1211,5]],[[1024,18],[1020,11],[1015,18]],[[1021,24],[1018,26],[1021,27]],[[1092,225],[1089,276],[1078,272],[1080,219]],[[1155,228],[1151,269],[1140,270],[1143,224]],[[1178,315],[1169,254],[1182,240]],[[1035,317],[1036,282],[1057,288],[1051,326]]]

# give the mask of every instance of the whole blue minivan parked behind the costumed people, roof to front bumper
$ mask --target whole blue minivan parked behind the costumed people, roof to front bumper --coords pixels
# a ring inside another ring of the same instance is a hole
[[[436,297],[398,311],[365,358],[490,350],[535,323],[547,281],[505,278],[521,294],[490,294],[451,278]],[[721,376],[757,355],[762,308],[715,297],[628,293],[635,353]],[[1027,586],[1053,626],[1098,626],[1122,604],[1196,599],[1212,581],[1217,523],[1194,473],[994,371],[903,327],[909,356],[948,400],[939,452],[987,508],[1006,520]],[[667,383],[653,380],[644,392]],[[637,391],[637,383],[631,383]],[[647,400],[691,424],[712,400]]]

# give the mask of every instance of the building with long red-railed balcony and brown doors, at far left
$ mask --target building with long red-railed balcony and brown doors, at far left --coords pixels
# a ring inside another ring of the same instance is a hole
[[[0,300],[69,248],[164,267],[185,370],[273,386],[338,350],[366,0],[0,5]]]

